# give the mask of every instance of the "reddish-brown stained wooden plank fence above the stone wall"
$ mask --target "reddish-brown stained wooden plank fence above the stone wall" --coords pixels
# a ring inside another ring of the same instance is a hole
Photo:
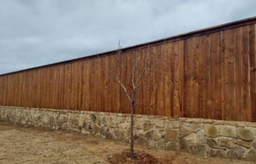
[[[123,81],[147,45],[164,52],[149,83],[167,80],[141,92],[137,114],[256,121],[256,17],[122,49]],[[96,55],[0,75],[0,105],[130,112]]]

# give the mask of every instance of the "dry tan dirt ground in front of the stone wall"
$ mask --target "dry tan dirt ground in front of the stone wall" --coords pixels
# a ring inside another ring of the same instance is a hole
[[[128,143],[77,133],[28,128],[0,121],[0,164],[137,164],[127,158]],[[144,164],[253,164],[204,158],[135,145]]]

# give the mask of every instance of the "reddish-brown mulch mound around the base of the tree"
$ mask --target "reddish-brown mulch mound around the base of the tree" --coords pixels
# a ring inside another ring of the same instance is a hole
[[[145,151],[135,151],[134,156],[135,160],[131,160],[130,150],[127,149],[121,153],[111,155],[107,158],[107,161],[111,164],[172,164],[172,160],[175,158],[155,158]]]

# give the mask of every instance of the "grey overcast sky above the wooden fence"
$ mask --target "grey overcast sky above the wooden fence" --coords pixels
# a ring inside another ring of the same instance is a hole
[[[256,16],[256,0],[1,0],[0,74]]]

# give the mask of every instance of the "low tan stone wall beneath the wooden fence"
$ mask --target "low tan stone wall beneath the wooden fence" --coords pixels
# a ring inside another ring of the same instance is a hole
[[[0,106],[0,120],[129,142],[130,115]],[[256,161],[256,123],[135,115],[137,144]]]

